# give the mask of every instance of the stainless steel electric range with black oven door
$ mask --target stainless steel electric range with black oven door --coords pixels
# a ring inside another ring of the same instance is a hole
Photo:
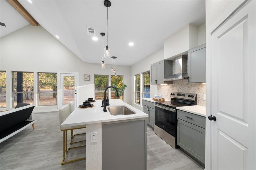
[[[155,106],[154,132],[176,149],[177,111],[176,107],[197,104],[197,94],[172,92],[171,101],[158,101]]]

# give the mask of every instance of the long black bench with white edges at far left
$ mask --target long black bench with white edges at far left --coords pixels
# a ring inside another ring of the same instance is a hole
[[[31,124],[32,126],[34,125],[36,120],[27,121],[32,114],[34,107],[34,105],[27,105],[0,112],[0,143],[27,128]]]

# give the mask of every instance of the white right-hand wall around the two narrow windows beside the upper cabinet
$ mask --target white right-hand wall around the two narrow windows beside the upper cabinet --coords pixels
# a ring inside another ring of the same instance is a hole
[[[131,66],[131,82],[133,84],[132,87],[132,95],[131,95],[131,105],[138,108],[138,109],[143,109],[140,105],[137,105],[134,103],[135,100],[135,82],[134,82],[134,75],[144,73],[146,71],[150,71],[150,65],[164,59],[164,48],[161,48],[157,50],[156,52],[150,54],[146,58],[142,59],[141,61],[137,62],[136,64]],[[142,82],[142,75],[141,75],[141,82]],[[142,83],[141,83],[142,84]],[[142,90],[143,87],[141,87],[141,96],[142,96]],[[157,85],[155,84],[150,84],[150,97],[154,97],[154,95],[157,94]]]

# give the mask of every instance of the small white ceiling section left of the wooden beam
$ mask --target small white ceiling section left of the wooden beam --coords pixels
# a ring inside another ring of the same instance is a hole
[[[0,0],[0,22],[6,27],[0,26],[0,37],[3,37],[17,29],[29,24],[29,22],[14,9],[7,1]]]

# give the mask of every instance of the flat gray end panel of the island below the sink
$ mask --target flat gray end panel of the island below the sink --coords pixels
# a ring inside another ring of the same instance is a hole
[[[146,170],[146,120],[102,123],[102,169]]]

